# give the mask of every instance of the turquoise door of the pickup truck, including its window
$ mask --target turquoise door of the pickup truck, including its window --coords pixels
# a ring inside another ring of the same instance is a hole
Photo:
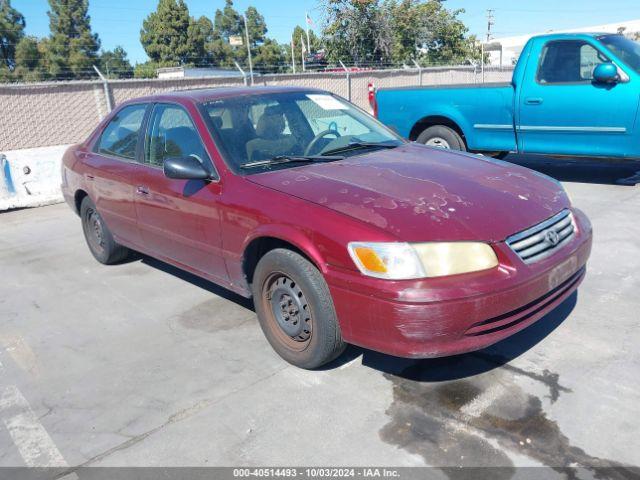
[[[628,79],[595,83],[595,66],[609,61],[595,41],[537,43],[517,97],[519,150],[604,157],[631,151],[638,86]]]

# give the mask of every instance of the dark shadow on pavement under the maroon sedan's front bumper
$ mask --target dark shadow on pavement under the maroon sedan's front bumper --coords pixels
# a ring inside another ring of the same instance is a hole
[[[578,292],[574,292],[533,325],[476,352],[416,360],[349,346],[343,355],[325,365],[323,369],[332,370],[362,355],[363,366],[409,380],[445,382],[472,377],[502,367],[535,347],[566,320],[575,308],[577,299]]]

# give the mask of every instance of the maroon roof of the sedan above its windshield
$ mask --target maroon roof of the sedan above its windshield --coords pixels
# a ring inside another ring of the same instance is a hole
[[[129,102],[155,102],[155,101],[191,101],[195,103],[203,103],[219,98],[240,97],[246,95],[266,95],[288,92],[320,92],[327,93],[324,90],[308,87],[290,87],[290,86],[253,86],[253,87],[218,87],[218,88],[199,88],[193,90],[176,90],[173,92],[158,93],[146,97],[139,97],[129,100]]]

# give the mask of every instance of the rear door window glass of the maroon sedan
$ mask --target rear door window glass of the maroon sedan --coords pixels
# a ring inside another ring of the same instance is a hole
[[[146,105],[131,105],[111,119],[100,136],[98,153],[134,160]]]

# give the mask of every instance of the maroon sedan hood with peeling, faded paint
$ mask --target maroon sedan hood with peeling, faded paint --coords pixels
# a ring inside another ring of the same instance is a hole
[[[569,206],[546,175],[418,144],[247,179],[410,242],[502,241]]]

